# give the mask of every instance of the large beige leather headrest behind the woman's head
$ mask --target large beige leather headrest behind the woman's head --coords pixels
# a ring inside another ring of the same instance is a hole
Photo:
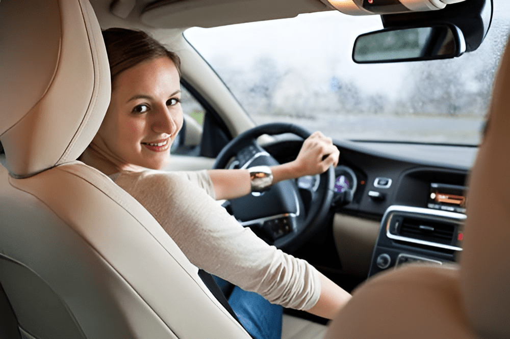
[[[0,13],[0,141],[22,178],[85,150],[110,102],[110,70],[88,0],[2,0]]]

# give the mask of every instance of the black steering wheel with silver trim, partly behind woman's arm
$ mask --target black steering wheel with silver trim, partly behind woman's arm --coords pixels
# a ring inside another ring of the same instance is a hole
[[[303,140],[311,134],[287,123],[254,127],[228,143],[218,154],[213,168],[277,165],[278,161],[257,144],[257,138],[263,134],[283,133],[293,133]],[[252,192],[223,206],[267,243],[292,251],[324,224],[333,199],[334,184],[335,171],[330,166],[321,175],[281,181],[265,192]]]

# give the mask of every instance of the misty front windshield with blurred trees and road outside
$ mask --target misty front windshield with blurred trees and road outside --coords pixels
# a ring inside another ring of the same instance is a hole
[[[257,124],[292,122],[337,139],[478,145],[510,6],[494,0],[487,38],[460,58],[355,64],[354,39],[379,16],[337,11],[192,28],[186,39]]]

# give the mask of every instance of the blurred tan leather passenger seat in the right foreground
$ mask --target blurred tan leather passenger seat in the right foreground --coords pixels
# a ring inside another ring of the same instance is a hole
[[[374,276],[331,322],[333,338],[510,338],[510,47],[472,170],[460,268]]]

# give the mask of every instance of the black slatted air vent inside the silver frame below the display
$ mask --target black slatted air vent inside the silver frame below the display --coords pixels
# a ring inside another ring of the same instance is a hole
[[[451,245],[455,226],[426,219],[404,218],[398,233],[402,237]]]

